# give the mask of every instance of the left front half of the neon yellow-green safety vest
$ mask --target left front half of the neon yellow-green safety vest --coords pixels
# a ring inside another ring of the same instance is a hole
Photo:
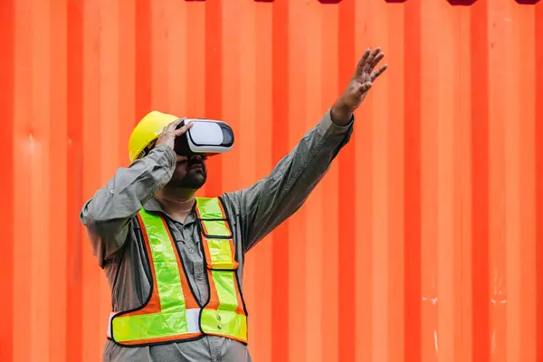
[[[109,337],[121,345],[136,346],[202,336],[198,321],[201,309],[164,217],[141,210],[138,222],[153,278],[152,290],[141,308],[111,316]]]

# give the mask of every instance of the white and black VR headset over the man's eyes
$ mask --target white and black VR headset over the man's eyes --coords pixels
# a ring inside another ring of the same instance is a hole
[[[227,123],[214,119],[184,119],[177,129],[190,123],[193,124],[192,128],[176,138],[177,155],[213,156],[233,147],[233,130]]]

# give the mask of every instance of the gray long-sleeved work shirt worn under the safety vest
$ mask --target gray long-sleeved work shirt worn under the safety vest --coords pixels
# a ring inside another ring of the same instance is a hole
[[[339,149],[348,142],[353,121],[348,126],[338,127],[332,123],[328,110],[269,176],[252,186],[222,195],[226,213],[233,223],[236,258],[240,264],[237,273],[242,291],[245,252],[305,202]],[[154,148],[147,157],[130,167],[119,168],[108,184],[82,208],[81,222],[89,232],[94,255],[110,282],[115,311],[138,308],[148,298],[150,271],[135,215],[142,207],[164,214],[153,195],[167,185],[175,167],[176,154],[171,148]],[[208,286],[195,213],[188,215],[185,224],[164,215],[186,266],[195,299],[204,304]],[[247,309],[251,318],[250,306]],[[104,334],[106,329],[107,321],[104,320]],[[251,361],[251,357],[248,348],[240,342],[206,336],[190,342],[138,348],[119,347],[108,340],[103,361],[243,362]]]

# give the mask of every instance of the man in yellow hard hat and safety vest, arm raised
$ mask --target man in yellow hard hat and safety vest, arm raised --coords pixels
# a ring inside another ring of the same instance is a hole
[[[205,157],[175,152],[191,124],[159,112],[142,119],[132,164],[81,211],[110,281],[104,361],[251,361],[244,254],[300,208],[347,144],[383,56],[364,53],[347,89],[269,176],[219,198],[195,197]]]

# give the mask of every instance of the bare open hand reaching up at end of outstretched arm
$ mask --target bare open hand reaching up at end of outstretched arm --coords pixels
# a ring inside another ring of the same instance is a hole
[[[357,71],[351,81],[348,82],[347,89],[338,98],[336,104],[332,107],[332,119],[338,126],[347,125],[362,101],[366,98],[367,92],[379,75],[386,71],[387,65],[375,70],[376,65],[385,57],[381,48],[376,48],[373,52],[369,49],[364,52],[357,65]]]

